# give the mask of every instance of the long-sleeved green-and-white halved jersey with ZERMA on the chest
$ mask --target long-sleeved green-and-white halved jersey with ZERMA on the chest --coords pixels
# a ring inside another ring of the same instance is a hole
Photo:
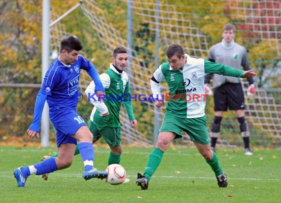
[[[158,83],[151,80],[151,90],[154,98],[161,98],[160,82],[166,79],[169,86],[169,93],[165,98],[166,113],[181,118],[198,118],[205,115],[205,74],[243,77],[243,72],[244,70],[187,56],[182,70],[173,70],[169,63],[163,63],[157,68],[153,77]]]

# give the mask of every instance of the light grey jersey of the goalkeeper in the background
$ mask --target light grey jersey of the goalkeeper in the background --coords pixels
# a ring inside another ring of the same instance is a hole
[[[234,41],[231,42],[229,47],[224,46],[224,43],[225,42],[222,41],[213,45],[210,49],[208,59],[212,62],[225,64],[239,70],[241,69],[241,66],[244,70],[249,70],[250,68],[246,49]],[[205,83],[210,83],[210,79]],[[248,81],[249,80],[253,79],[249,78]],[[224,83],[241,83],[241,79],[218,74],[213,75],[213,88],[219,87]],[[249,81],[249,83],[251,84],[252,81]]]

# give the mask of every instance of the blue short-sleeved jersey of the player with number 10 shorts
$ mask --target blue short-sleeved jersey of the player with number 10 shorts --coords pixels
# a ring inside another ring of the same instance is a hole
[[[67,66],[55,60],[47,70],[39,93],[48,95],[49,110],[55,108],[71,107],[76,110],[80,69],[89,71],[94,66],[84,57],[78,55],[73,65]]]

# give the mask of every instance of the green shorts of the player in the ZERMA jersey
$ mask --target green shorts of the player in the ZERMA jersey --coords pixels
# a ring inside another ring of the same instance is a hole
[[[200,144],[210,143],[206,115],[199,118],[178,118],[165,114],[160,132],[174,132],[177,134],[176,139],[182,137],[182,131],[186,132],[192,141]]]

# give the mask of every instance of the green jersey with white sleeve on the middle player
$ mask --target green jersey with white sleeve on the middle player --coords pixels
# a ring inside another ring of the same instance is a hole
[[[95,105],[91,113],[90,119],[99,127],[120,127],[119,112],[122,102],[124,101],[125,108],[127,110],[129,120],[135,120],[133,113],[132,102],[129,99],[131,90],[129,87],[129,79],[126,72],[118,72],[113,64],[100,75],[101,81],[105,88],[104,102],[100,103],[94,100],[90,100]],[[86,89],[87,96],[94,94],[95,84],[93,81]],[[107,109],[109,115],[101,117],[99,114],[106,113]]]

